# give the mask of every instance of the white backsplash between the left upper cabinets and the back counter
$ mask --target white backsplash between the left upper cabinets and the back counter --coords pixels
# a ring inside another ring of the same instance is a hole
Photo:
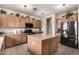
[[[4,32],[7,34],[18,34],[22,33],[26,30],[27,28],[1,28],[0,32]],[[32,29],[33,32],[39,32],[39,29]]]

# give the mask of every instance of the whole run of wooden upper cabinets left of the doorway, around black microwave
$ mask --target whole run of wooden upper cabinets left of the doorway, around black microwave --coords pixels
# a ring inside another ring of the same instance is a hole
[[[0,27],[4,28],[12,28],[12,27],[25,27],[25,23],[32,23],[33,28],[41,28],[42,22],[41,20],[37,20],[35,18],[30,17],[16,17],[13,15],[0,15]]]

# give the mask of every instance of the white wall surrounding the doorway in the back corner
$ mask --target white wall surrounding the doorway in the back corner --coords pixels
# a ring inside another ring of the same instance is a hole
[[[52,35],[55,35],[55,14],[52,14],[52,15],[46,16],[44,18],[41,18],[41,20],[42,20],[42,31],[43,31],[43,33],[46,34],[46,28],[47,28],[46,18],[49,18],[49,17],[52,17],[52,19],[51,19]]]

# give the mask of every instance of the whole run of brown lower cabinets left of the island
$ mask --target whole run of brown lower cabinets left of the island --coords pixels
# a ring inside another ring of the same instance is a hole
[[[7,35],[5,36],[5,48],[27,43],[26,35]]]

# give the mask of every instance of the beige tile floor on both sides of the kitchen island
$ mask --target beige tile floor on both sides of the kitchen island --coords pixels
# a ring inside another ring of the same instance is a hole
[[[31,55],[27,51],[27,44],[7,48],[2,52],[2,55]],[[79,55],[79,49],[69,48],[59,45],[58,51],[54,55]]]

